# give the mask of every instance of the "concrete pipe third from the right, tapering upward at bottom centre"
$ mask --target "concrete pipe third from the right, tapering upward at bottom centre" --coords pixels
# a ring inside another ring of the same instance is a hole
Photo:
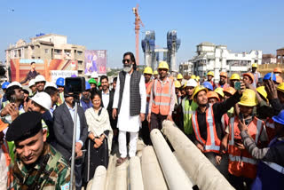
[[[168,190],[153,146],[143,149],[141,168],[145,190]]]

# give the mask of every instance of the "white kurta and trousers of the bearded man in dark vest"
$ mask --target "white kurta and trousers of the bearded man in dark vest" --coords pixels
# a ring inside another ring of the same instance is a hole
[[[125,74],[124,90],[122,92],[122,103],[117,121],[117,128],[119,129],[118,143],[119,143],[119,152],[121,154],[121,162],[124,162],[124,160],[127,157],[126,132],[130,132],[129,156],[132,157],[136,155],[138,131],[141,126],[141,120],[145,119],[145,113],[146,113],[145,79],[144,76],[141,75],[139,81],[139,94],[141,99],[140,115],[134,115],[134,116],[130,115],[130,88],[131,88],[130,78],[132,72],[133,68],[131,68],[130,72],[126,72]],[[118,108],[119,104],[120,88],[121,88],[121,83],[120,83],[120,77],[118,76],[114,92],[113,108],[115,110],[115,115],[116,115],[116,109]]]

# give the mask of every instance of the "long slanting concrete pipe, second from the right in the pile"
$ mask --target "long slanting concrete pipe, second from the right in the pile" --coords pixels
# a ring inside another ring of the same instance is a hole
[[[185,170],[177,162],[177,158],[171,152],[166,140],[162,137],[161,131],[154,129],[150,133],[154,151],[160,162],[164,177],[170,190],[189,190],[193,183],[186,176]]]

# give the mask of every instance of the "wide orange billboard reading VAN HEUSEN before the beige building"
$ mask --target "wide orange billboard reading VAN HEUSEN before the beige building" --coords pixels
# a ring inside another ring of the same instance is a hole
[[[11,59],[11,80],[25,82],[28,85],[26,77],[31,70],[31,62],[36,62],[36,72],[43,75],[46,81],[54,82],[55,77],[69,77],[78,74],[78,63],[71,59]]]

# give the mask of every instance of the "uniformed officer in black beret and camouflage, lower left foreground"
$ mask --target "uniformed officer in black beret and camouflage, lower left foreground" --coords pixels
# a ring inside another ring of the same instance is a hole
[[[68,189],[70,168],[59,152],[46,143],[42,115],[27,112],[9,126],[6,140],[14,141],[14,189]]]

